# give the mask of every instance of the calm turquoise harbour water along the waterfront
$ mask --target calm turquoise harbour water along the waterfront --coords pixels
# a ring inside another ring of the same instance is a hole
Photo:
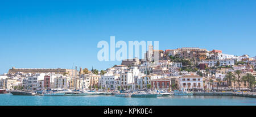
[[[123,98],[105,95],[77,97],[14,96],[0,94],[1,106],[256,106],[256,98],[233,96],[171,96],[158,98]]]

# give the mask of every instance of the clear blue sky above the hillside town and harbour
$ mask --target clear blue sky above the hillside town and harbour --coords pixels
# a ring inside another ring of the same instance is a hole
[[[255,56],[255,0],[0,1],[0,73],[16,68],[106,69],[97,43],[159,41]]]

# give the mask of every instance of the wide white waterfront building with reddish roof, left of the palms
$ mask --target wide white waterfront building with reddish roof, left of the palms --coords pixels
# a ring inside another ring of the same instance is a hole
[[[181,90],[186,91],[203,91],[203,77],[200,76],[183,76],[179,79]]]

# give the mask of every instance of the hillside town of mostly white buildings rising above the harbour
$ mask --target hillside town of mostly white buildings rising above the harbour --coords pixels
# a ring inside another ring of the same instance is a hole
[[[255,91],[256,56],[228,55],[221,50],[177,48],[144,53],[146,59],[123,60],[121,65],[97,70],[11,68],[1,74],[6,90],[185,90]],[[155,58],[158,58],[157,60]]]

